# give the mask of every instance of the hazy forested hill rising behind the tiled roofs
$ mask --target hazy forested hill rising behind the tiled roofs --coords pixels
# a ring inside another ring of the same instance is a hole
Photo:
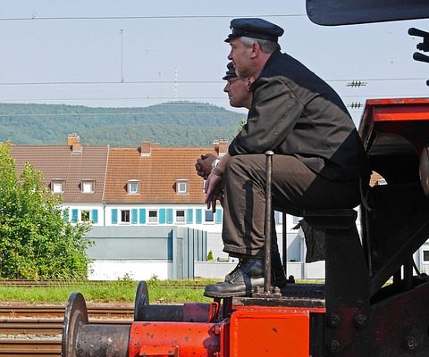
[[[169,102],[142,108],[93,108],[65,104],[1,104],[0,142],[63,145],[68,134],[90,145],[209,146],[237,133],[245,114],[213,104]]]

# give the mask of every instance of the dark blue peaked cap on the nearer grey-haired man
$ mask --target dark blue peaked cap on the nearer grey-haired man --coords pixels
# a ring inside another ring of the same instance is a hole
[[[234,19],[231,21],[230,29],[232,33],[228,35],[225,42],[230,42],[233,38],[243,36],[277,42],[284,32],[280,26],[257,18]]]

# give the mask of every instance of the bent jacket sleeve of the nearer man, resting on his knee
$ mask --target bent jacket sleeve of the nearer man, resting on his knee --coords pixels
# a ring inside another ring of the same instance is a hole
[[[275,151],[288,136],[304,108],[290,87],[278,77],[259,78],[254,84],[248,120],[231,141],[228,149],[231,156]]]

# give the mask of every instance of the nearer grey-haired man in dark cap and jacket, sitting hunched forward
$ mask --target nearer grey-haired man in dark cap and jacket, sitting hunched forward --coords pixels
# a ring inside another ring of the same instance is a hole
[[[265,151],[273,150],[273,207],[302,216],[305,209],[353,208],[369,172],[363,145],[339,95],[289,54],[279,26],[235,19],[225,39],[240,78],[254,77],[248,120],[206,180],[206,203],[224,189],[224,251],[240,263],[205,295],[251,295],[264,285]],[[366,181],[366,182],[365,182]]]

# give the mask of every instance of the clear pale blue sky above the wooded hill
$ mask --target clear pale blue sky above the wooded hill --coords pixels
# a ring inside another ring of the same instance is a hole
[[[352,104],[429,94],[429,64],[412,58],[422,38],[407,32],[429,20],[322,27],[305,0],[14,0],[0,8],[0,102],[231,109],[223,40],[239,17],[281,26],[282,51],[326,80],[356,125],[363,107]]]

